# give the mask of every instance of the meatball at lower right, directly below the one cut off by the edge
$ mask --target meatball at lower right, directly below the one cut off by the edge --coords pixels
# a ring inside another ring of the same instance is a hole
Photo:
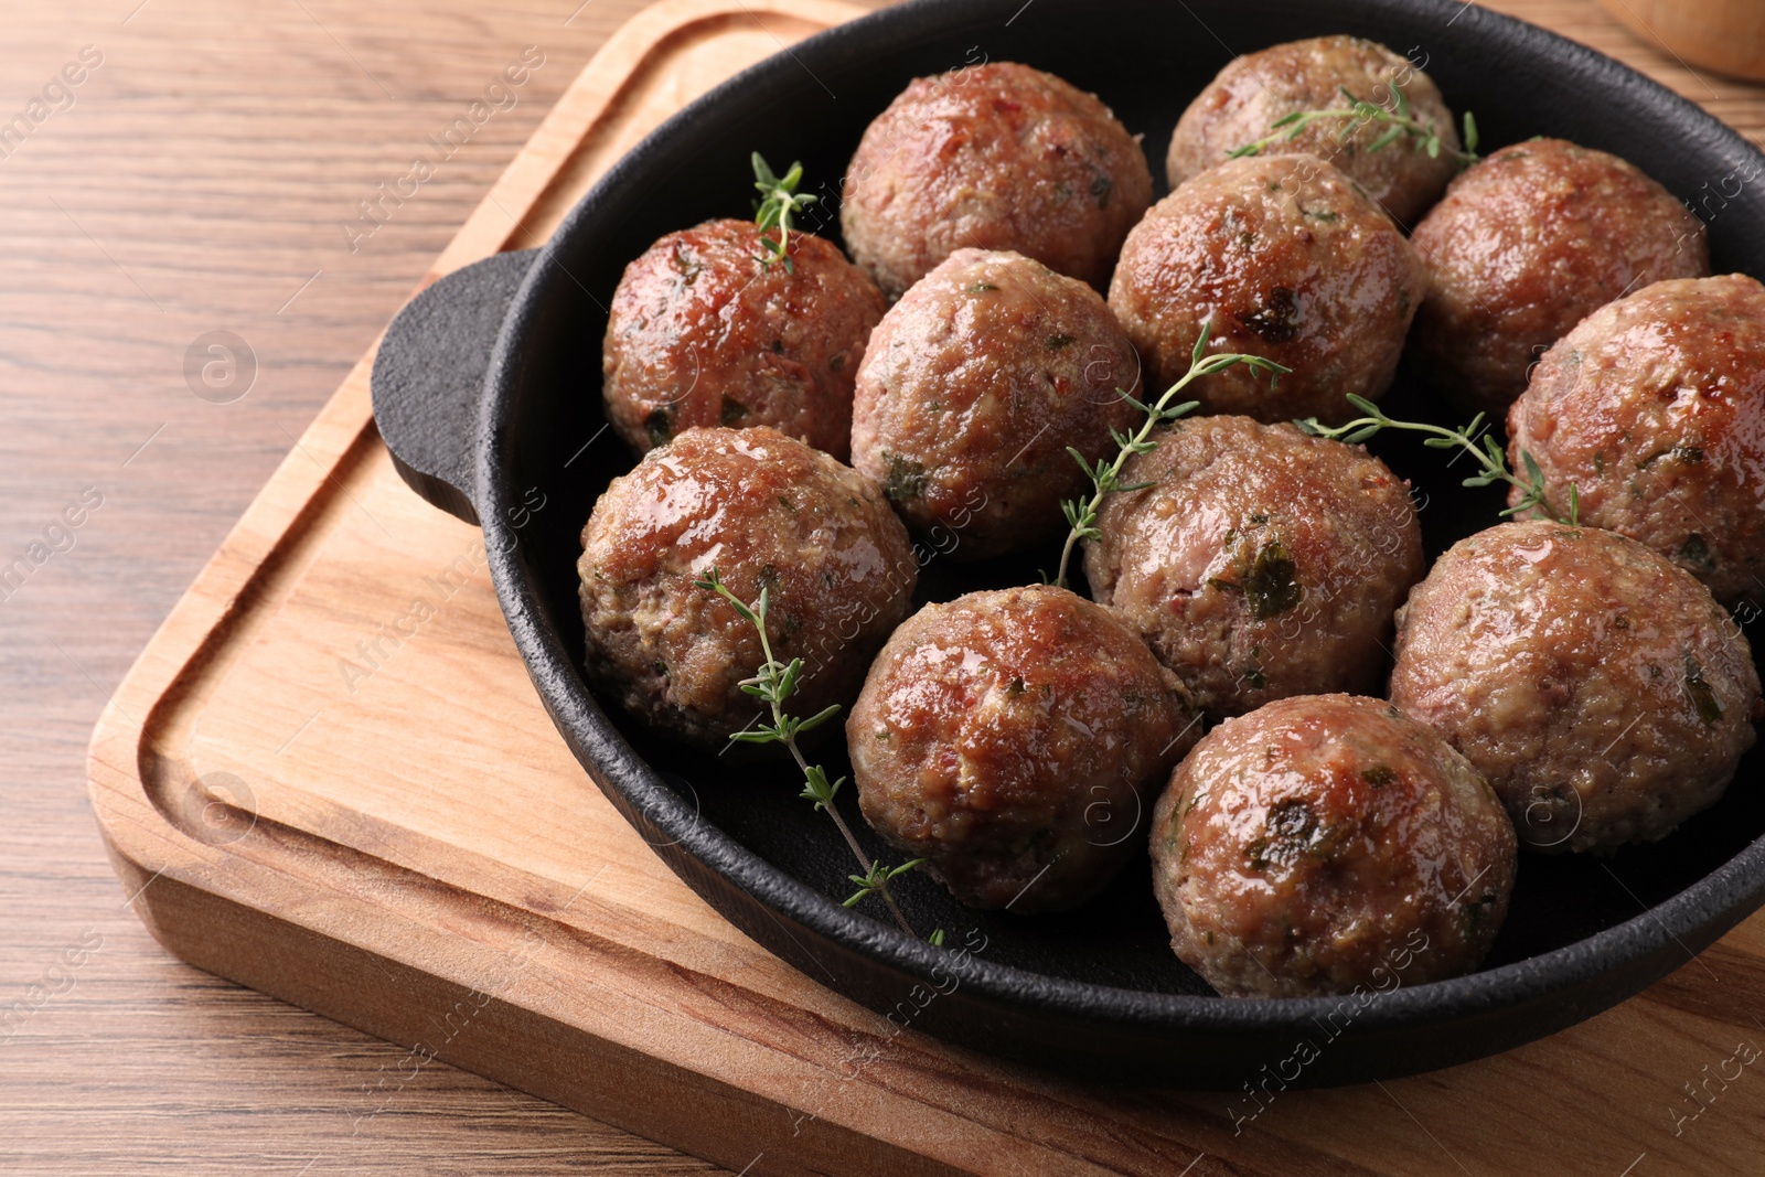
[[[1597,528],[1454,544],[1398,612],[1391,701],[1431,723],[1546,851],[1654,842],[1753,746],[1746,637],[1691,574]]]

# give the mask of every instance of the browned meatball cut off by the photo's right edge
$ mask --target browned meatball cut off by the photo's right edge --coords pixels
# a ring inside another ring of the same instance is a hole
[[[1574,484],[1581,522],[1641,540],[1724,603],[1765,600],[1765,286],[1673,279],[1601,307],[1544,353],[1507,436],[1550,503]]]

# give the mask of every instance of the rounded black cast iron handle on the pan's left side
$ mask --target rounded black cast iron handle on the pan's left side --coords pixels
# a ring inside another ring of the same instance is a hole
[[[448,274],[404,304],[374,356],[374,424],[417,494],[478,522],[473,466],[491,349],[537,249]]]

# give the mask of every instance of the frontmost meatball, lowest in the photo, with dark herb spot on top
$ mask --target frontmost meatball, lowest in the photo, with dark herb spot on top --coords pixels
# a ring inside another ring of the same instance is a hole
[[[1153,810],[1170,948],[1225,997],[1391,990],[1477,967],[1514,828],[1380,699],[1281,699],[1207,732]]]

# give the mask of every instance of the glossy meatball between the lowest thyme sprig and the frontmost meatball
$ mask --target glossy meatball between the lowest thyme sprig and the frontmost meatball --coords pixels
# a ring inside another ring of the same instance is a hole
[[[1195,743],[1177,679],[1061,588],[969,593],[895,630],[845,722],[865,821],[969,907],[1064,911],[1133,856],[1142,787]]]

